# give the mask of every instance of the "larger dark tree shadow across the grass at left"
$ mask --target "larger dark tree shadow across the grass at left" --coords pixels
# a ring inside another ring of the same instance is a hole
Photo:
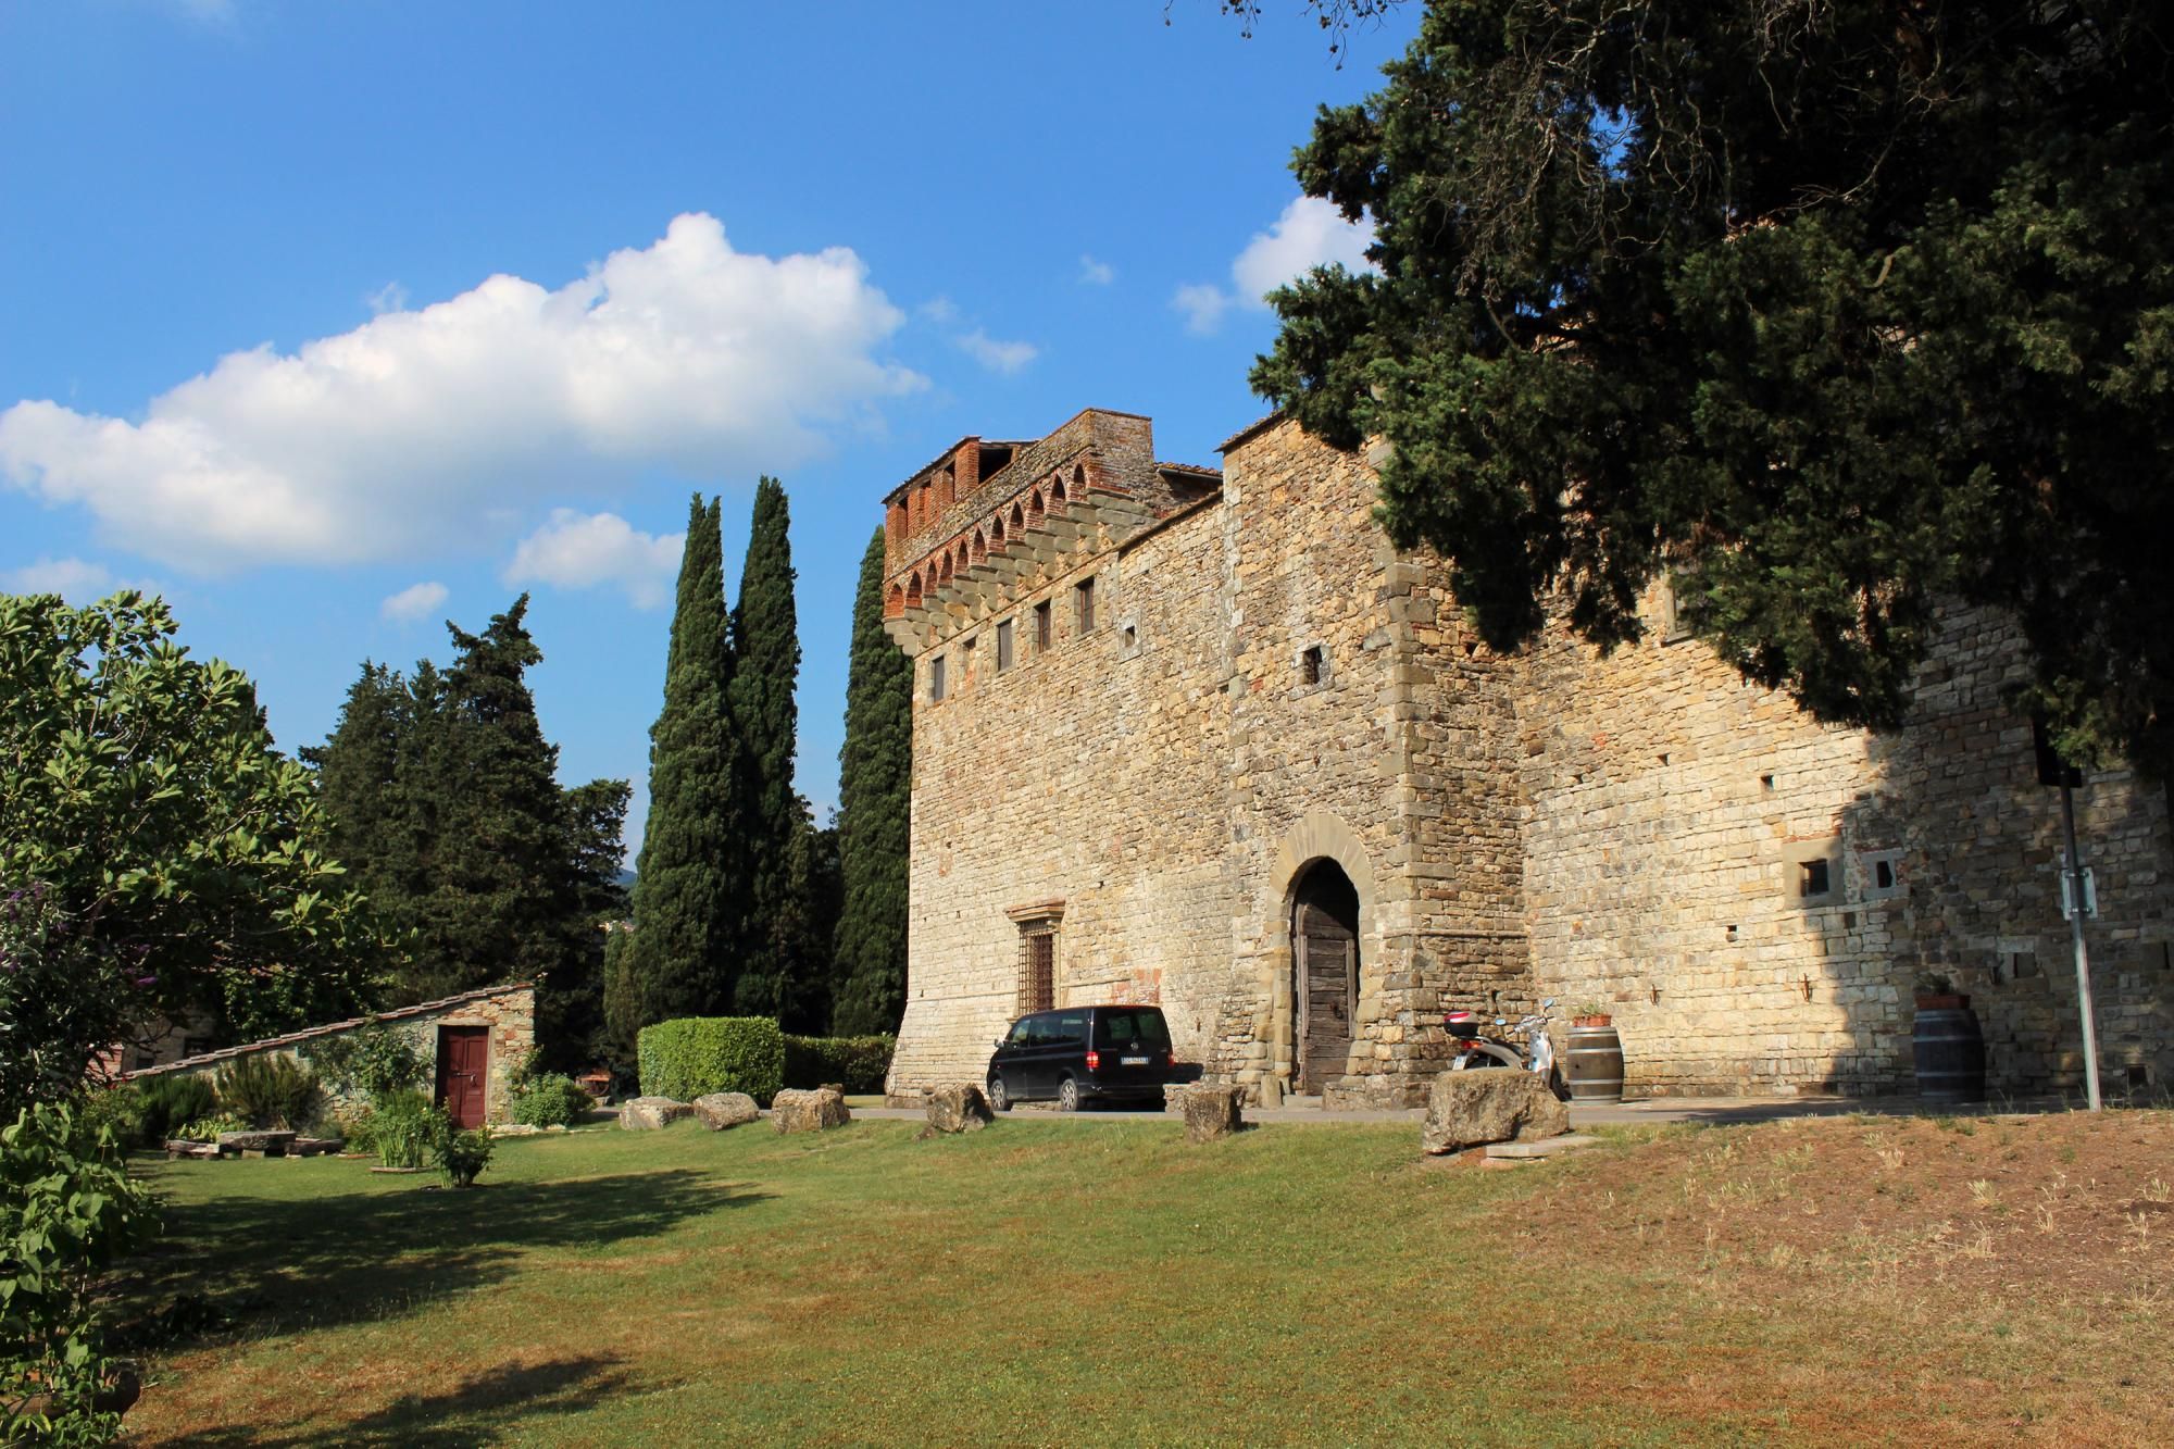
[[[222,1197],[167,1212],[165,1240],[130,1262],[115,1318],[130,1325],[124,1342],[148,1349],[228,1327],[387,1318],[504,1281],[533,1249],[650,1238],[767,1197],[685,1168],[470,1192]]]

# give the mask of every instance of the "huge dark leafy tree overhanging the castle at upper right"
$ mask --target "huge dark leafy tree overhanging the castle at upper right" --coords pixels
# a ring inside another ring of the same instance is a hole
[[[1320,9],[1320,7],[1317,7]],[[1439,0],[1294,170],[1374,270],[1254,387],[1494,646],[1641,585],[1748,679],[1894,725],[1998,605],[2072,759],[2174,768],[2174,30],[2144,0]]]

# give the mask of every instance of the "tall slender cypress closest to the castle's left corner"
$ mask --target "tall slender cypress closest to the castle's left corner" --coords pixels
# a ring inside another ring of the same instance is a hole
[[[913,807],[913,659],[883,629],[883,529],[861,557],[837,753],[841,905],[830,1025],[898,1031],[907,1007],[907,831]]]

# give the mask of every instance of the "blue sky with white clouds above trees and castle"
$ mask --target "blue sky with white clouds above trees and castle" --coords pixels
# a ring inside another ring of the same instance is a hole
[[[287,748],[528,590],[633,844],[687,496],[737,590],[770,472],[822,816],[880,496],[1089,405],[1213,463],[1407,9],[1337,70],[1296,0],[0,4],[0,590],[157,587]]]

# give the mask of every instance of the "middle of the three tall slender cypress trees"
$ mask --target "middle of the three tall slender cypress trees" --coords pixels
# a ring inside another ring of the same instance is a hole
[[[807,1027],[809,1001],[824,994],[828,959],[800,957],[794,849],[809,827],[794,794],[800,709],[800,622],[794,609],[789,509],[776,479],[754,485],[748,561],[733,609],[733,727],[739,733],[741,822],[748,842],[746,931],[733,1007]],[[828,953],[824,953],[826,957]]]

